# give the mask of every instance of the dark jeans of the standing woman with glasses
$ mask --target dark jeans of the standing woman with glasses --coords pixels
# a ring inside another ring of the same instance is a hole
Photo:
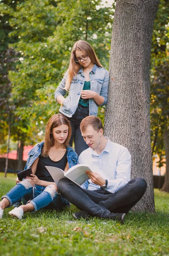
[[[70,138],[69,145],[72,146],[74,139],[74,149],[78,156],[83,150],[89,148],[89,146],[84,141],[80,131],[80,122],[86,116],[89,116],[89,108],[83,107],[79,104],[74,115],[72,117],[67,117],[72,127],[72,136]]]

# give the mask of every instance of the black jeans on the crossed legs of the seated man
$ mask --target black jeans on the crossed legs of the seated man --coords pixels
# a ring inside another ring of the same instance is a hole
[[[105,189],[82,189],[68,178],[62,178],[57,188],[77,208],[99,218],[106,218],[110,212],[129,212],[144,195],[147,184],[143,178],[135,178],[117,192],[111,193]]]

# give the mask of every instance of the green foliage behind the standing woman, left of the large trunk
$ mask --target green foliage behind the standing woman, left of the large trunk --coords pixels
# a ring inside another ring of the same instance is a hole
[[[8,102],[15,106],[11,134],[14,140],[35,141],[36,121],[46,123],[58,113],[53,94],[68,68],[75,41],[89,41],[104,67],[109,67],[113,12],[101,0],[70,0],[69,4],[27,0],[17,2],[15,8],[3,1],[1,11],[9,17],[9,40],[17,38],[10,46],[19,54],[16,70],[8,72]],[[100,113],[103,116],[103,109]]]

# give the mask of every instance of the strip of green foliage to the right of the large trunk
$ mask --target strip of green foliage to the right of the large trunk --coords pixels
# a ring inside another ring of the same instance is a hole
[[[152,36],[151,58],[152,153],[163,165],[163,132],[169,126],[169,1],[160,0]]]

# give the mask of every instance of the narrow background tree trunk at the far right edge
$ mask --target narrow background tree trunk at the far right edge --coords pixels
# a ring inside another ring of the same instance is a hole
[[[169,193],[169,130],[164,132],[164,147],[166,151],[166,174],[162,191]]]

